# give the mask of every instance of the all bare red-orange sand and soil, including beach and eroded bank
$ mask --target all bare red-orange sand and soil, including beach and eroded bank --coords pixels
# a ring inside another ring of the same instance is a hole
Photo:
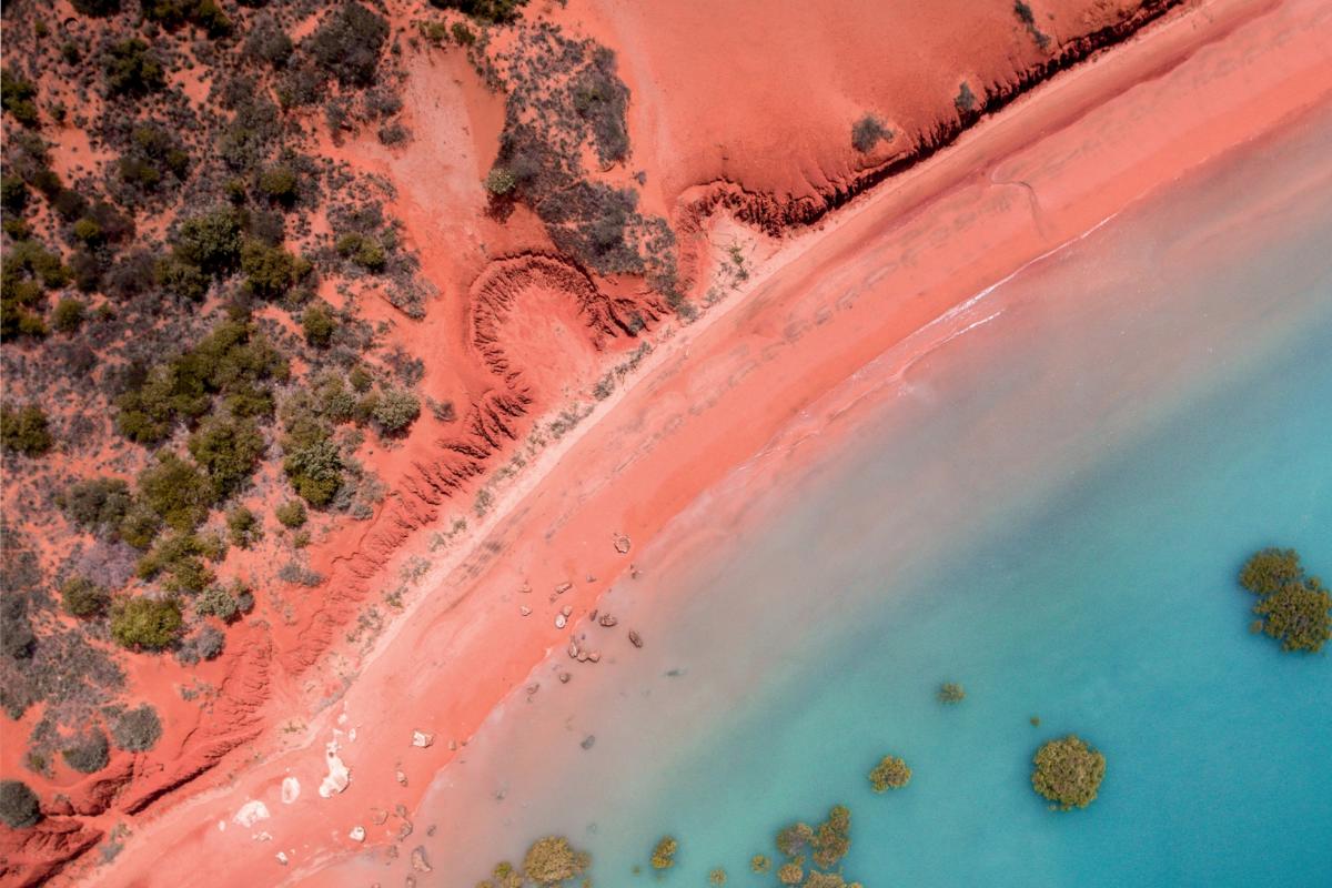
[[[1050,59],[1034,44],[1028,53],[1020,29],[1020,40],[1010,35],[1018,25],[1008,4],[996,5],[1000,16],[975,4],[907,13],[919,4],[900,3],[880,21],[878,5],[848,3],[831,24],[802,8],[774,21],[763,4],[734,5],[726,28],[703,19],[715,4],[693,1],[679,4],[678,19],[674,4],[667,13],[579,0],[551,13],[619,51],[634,95],[633,165],[650,170],[654,200],[693,225],[701,269],[739,236],[755,240],[710,212],[730,209],[769,232],[817,218],[840,200],[838,189],[887,169],[894,153],[956,129],[959,77],[978,95],[983,87],[998,96]],[[1084,5],[1094,11],[1068,12],[1067,28],[1063,13],[1050,17]],[[1119,5],[1034,4],[1054,52],[1066,36],[1116,20]],[[627,308],[619,300],[643,305],[641,294],[607,296],[605,285],[542,257],[549,248],[530,217],[500,225],[481,216],[477,182],[493,157],[500,100],[456,59],[408,59],[417,142],[389,150],[362,140],[341,152],[398,182],[392,210],[441,298],[428,322],[398,321],[394,335],[426,358],[422,390],[458,403],[460,421],[425,423],[430,434],[374,454],[394,493],[373,522],[349,523],[317,546],[313,566],[330,579],[302,592],[290,622],[254,622],[229,639],[209,667],[218,687],[209,708],[166,712],[168,735],[152,754],[120,754],[81,784],[65,780],[69,809],[48,808],[37,829],[0,827],[5,884],[40,880],[121,821],[132,835],[111,865],[80,861],[56,881],[325,884],[318,864],[362,848],[346,837],[357,824],[368,829],[366,847],[382,853],[402,820],[376,825],[370,809],[413,811],[453,758],[450,740],[465,743],[565,644],[553,627],[558,606],[586,614],[633,559],[617,553],[617,534],[646,541],[822,393],[1031,258],[1248,136],[1327,111],[1332,65],[1320,35],[1328,15],[1317,0],[1195,4],[1019,99],[954,148],[825,217],[818,230],[762,241],[743,292],[691,326],[662,325],[637,383],[498,489],[490,518],[433,555],[420,582],[428,594],[357,651],[342,642],[348,624],[397,584],[400,567],[434,551],[429,531],[446,531],[452,517],[470,511],[477,477],[514,453],[539,411],[586,391],[614,363],[603,349],[633,347],[618,326]],[[971,37],[988,49],[959,40],[958,27],[975,28]],[[996,28],[999,44],[990,39]],[[774,56],[770,32],[790,55]],[[727,73],[735,69],[750,76]],[[735,88],[718,93],[718,83]],[[883,154],[854,156],[850,121],[876,109],[899,134]],[[809,141],[793,148],[793,138]],[[438,145],[444,160],[422,153]],[[710,281],[699,280],[702,294]],[[549,314],[535,322],[529,305]],[[553,603],[563,582],[573,590]],[[523,583],[534,591],[519,592]],[[523,619],[519,606],[535,612]],[[575,680],[597,668],[605,667],[578,667]],[[143,664],[136,684],[152,688],[161,680],[155,670]],[[169,682],[149,695],[176,696]],[[417,728],[434,734],[432,747],[410,748]],[[352,781],[321,799],[330,740]],[[3,752],[7,774],[20,754],[13,746]],[[190,784],[193,795],[148,807],[218,763]],[[301,787],[290,804],[280,800],[286,776]],[[250,828],[234,823],[249,800],[262,800],[272,817]],[[280,851],[290,860],[285,869]]]

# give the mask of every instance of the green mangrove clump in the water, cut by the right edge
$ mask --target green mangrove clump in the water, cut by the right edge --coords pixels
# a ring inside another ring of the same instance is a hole
[[[1283,651],[1316,654],[1332,636],[1332,595],[1307,576],[1293,549],[1264,549],[1240,570],[1240,586],[1259,596],[1253,631],[1281,642]]]

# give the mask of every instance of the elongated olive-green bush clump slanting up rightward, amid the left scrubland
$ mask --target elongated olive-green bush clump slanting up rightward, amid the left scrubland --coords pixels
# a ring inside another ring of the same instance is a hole
[[[193,349],[153,366],[123,394],[116,426],[131,441],[153,443],[174,425],[197,421],[221,395],[233,417],[264,417],[273,411],[272,379],[285,379],[286,359],[252,326],[240,321],[218,325]]]

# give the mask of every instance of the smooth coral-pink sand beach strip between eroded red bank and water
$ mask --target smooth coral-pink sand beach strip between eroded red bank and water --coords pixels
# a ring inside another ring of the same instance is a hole
[[[312,718],[304,744],[268,758],[260,744],[261,760],[229,784],[136,823],[124,852],[88,880],[324,884],[322,864],[404,836],[456,755],[452,742],[566,643],[553,623],[559,607],[575,618],[594,608],[643,541],[807,405],[1183,170],[1327,113],[1329,15],[1317,0],[1203,4],[793,238],[749,290],[659,347],[635,385],[542,455],[497,503],[476,550],[437,566],[433,594],[384,634],[342,699]],[[627,555],[617,534],[634,541]],[[518,591],[525,582],[531,594]],[[563,582],[573,587],[551,602]],[[597,668],[606,666],[578,667],[575,680],[594,680]],[[433,743],[413,747],[413,730]],[[350,781],[322,797],[314,788],[334,742]],[[284,796],[288,779],[306,791]],[[241,828],[236,815],[258,811],[250,803],[269,817]],[[414,843],[404,839],[408,859]]]

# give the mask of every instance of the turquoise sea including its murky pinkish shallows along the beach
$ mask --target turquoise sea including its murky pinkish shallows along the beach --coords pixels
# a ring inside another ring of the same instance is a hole
[[[871,888],[1332,884],[1332,662],[1249,634],[1235,583],[1269,545],[1332,575],[1329,132],[998,288],[743,521],[745,471],[681,515],[607,599],[645,648],[437,777],[440,884],[559,832],[597,885],[774,885],[750,856],[836,803]],[[1063,813],[1028,780],[1067,732],[1108,766]],[[912,780],[874,795],[890,752]],[[663,833],[677,865],[634,875]]]

